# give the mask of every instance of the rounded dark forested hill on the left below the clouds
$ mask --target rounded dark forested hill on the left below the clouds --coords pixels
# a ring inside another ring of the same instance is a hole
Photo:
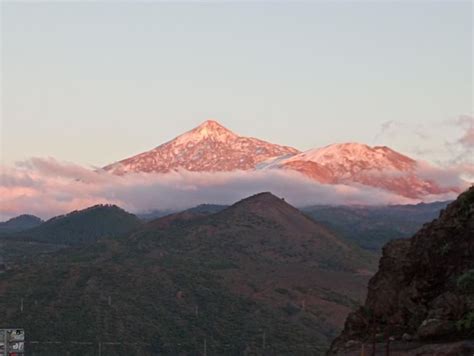
[[[80,245],[102,237],[126,234],[140,225],[135,215],[115,205],[96,205],[54,217],[15,237],[51,244]]]

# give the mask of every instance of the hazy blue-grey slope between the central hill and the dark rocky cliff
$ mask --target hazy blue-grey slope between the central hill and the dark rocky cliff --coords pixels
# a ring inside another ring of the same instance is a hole
[[[388,241],[407,238],[437,218],[449,202],[387,206],[311,206],[301,210],[339,236],[374,252]]]

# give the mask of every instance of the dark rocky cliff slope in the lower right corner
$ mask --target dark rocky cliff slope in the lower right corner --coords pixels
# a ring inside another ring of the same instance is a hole
[[[331,354],[359,355],[365,343],[382,355],[389,337],[404,355],[473,354],[474,186],[411,239],[384,247],[365,305]]]

